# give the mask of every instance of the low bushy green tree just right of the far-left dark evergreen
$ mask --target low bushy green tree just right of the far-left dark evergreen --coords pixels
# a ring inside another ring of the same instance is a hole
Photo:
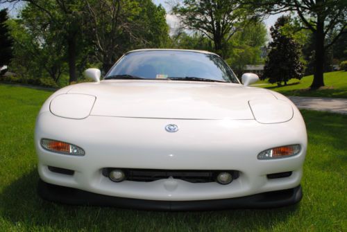
[[[37,18],[23,17],[8,21],[14,40],[11,70],[22,77],[24,83],[29,80],[40,84],[42,80],[51,78],[49,82],[56,84],[66,69],[65,47],[62,40],[49,30],[36,28],[40,24],[35,24],[34,19]]]

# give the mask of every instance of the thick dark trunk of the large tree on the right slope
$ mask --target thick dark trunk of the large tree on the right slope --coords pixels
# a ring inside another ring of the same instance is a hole
[[[323,69],[324,69],[324,18],[317,15],[317,26],[314,32],[316,39],[314,54],[314,75],[311,89],[318,89],[324,86]]]

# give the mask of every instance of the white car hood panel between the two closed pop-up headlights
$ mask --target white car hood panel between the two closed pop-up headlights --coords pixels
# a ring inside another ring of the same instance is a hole
[[[255,119],[250,100],[276,100],[242,84],[170,80],[104,80],[68,93],[95,96],[90,115],[131,118]]]

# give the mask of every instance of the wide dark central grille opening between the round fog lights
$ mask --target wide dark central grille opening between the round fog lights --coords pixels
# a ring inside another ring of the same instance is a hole
[[[151,182],[159,179],[182,179],[191,183],[215,182],[220,172],[230,172],[232,179],[239,177],[237,170],[160,170],[160,169],[137,169],[137,168],[103,168],[102,174],[108,177],[114,169],[123,170],[128,181]]]

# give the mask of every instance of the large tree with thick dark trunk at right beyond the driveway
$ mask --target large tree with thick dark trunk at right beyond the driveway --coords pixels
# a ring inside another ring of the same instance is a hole
[[[244,0],[248,7],[260,14],[296,12],[303,28],[311,30],[314,38],[314,79],[312,89],[324,86],[324,53],[334,44],[347,26],[347,1],[345,0]],[[336,31],[335,37],[326,43],[325,38]]]

